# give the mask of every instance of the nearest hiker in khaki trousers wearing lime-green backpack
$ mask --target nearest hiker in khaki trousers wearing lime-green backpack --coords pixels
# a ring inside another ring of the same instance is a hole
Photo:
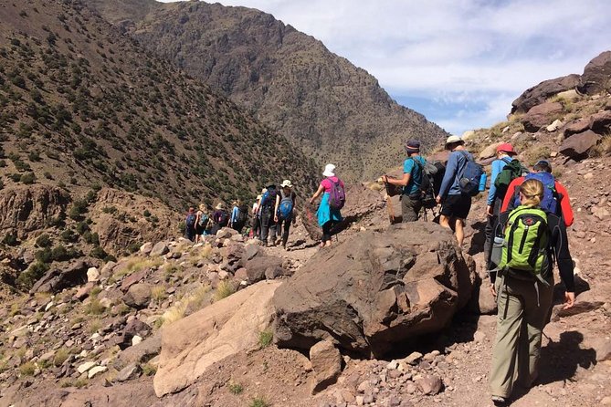
[[[490,370],[495,404],[507,402],[515,381],[529,389],[537,379],[542,332],[553,300],[554,258],[566,290],[564,309],[574,306],[566,227],[558,216],[541,210],[544,188],[538,180],[524,181],[521,205],[499,215],[500,224],[507,228],[499,270],[490,273],[499,308]]]

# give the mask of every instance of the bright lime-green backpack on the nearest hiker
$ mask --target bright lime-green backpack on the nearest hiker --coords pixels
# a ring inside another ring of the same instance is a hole
[[[507,221],[499,269],[514,277],[534,277],[549,286],[542,276],[549,265],[549,242],[547,214],[539,208],[518,206]]]

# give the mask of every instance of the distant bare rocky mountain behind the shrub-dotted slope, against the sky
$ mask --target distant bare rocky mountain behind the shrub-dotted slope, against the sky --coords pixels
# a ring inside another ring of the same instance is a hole
[[[348,180],[379,176],[401,160],[402,141],[408,138],[430,148],[448,136],[399,106],[363,69],[258,10],[154,0],[91,5],[143,47],[224,92],[317,162],[336,163]],[[143,16],[143,10],[150,12]]]

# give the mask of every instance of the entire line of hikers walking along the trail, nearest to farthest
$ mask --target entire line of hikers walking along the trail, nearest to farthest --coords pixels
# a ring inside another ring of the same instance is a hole
[[[450,136],[445,146],[449,155],[444,165],[427,162],[420,154],[419,141],[406,141],[403,176],[384,175],[382,181],[402,187],[404,223],[417,221],[440,204],[439,224],[451,229],[462,246],[472,199],[485,191],[488,177],[461,138]],[[566,234],[574,219],[568,193],[554,180],[550,162],[536,162],[531,171],[516,156],[510,143],[497,147],[486,205],[484,257],[499,309],[490,392],[492,401],[500,405],[507,402],[516,382],[529,388],[537,379],[543,328],[553,302],[554,264],[564,283],[564,308],[573,307],[575,297]],[[335,170],[333,164],[325,166],[323,179],[309,201],[313,204],[321,198],[316,213],[322,229],[321,247],[332,245],[332,228],[342,222],[346,200],[344,184]],[[296,202],[290,180],[284,180],[279,189],[268,183],[252,208],[239,201],[234,202],[231,214],[225,212],[223,203],[216,205],[212,215],[205,205],[196,213],[190,208],[186,235],[197,242],[225,226],[241,232],[249,213],[251,237],[260,239],[262,245],[281,243],[286,249]]]

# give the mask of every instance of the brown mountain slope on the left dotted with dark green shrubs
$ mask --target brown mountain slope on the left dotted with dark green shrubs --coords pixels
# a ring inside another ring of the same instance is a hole
[[[97,183],[173,205],[250,198],[283,177],[315,185],[284,137],[84,5],[0,7],[4,184]]]

